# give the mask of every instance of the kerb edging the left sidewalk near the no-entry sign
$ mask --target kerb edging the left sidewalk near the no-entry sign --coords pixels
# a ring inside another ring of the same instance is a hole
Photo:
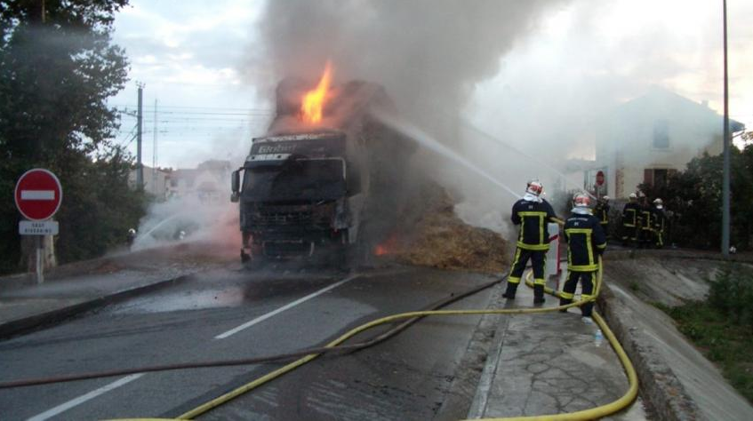
[[[56,308],[42,314],[35,314],[10,322],[0,323],[0,339],[4,340],[12,338],[22,333],[28,333],[31,330],[46,329],[75,317],[77,314],[82,314],[96,308],[107,306],[108,304],[113,304],[127,298],[133,298],[140,294],[160,290],[172,284],[183,282],[187,280],[189,276],[190,274],[182,274],[175,278],[149,283],[128,290],[121,290],[113,294],[88,299],[71,306]]]

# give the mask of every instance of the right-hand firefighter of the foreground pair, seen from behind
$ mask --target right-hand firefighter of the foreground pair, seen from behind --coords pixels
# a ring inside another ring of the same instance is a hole
[[[559,305],[573,302],[575,287],[581,280],[581,298],[593,297],[594,274],[598,270],[598,259],[606,249],[606,236],[597,217],[591,215],[588,195],[575,195],[572,216],[565,221],[567,241],[567,281],[560,293]],[[593,301],[581,306],[581,314],[590,321]],[[560,310],[565,313],[567,310]]]

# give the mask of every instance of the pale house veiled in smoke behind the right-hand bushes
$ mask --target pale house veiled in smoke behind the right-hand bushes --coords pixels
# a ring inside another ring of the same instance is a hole
[[[595,124],[596,160],[586,171],[587,185],[596,184],[598,171],[605,176],[601,195],[626,197],[639,184],[664,183],[694,157],[722,153],[723,122],[705,102],[653,88]],[[744,128],[730,120],[730,133]]]

